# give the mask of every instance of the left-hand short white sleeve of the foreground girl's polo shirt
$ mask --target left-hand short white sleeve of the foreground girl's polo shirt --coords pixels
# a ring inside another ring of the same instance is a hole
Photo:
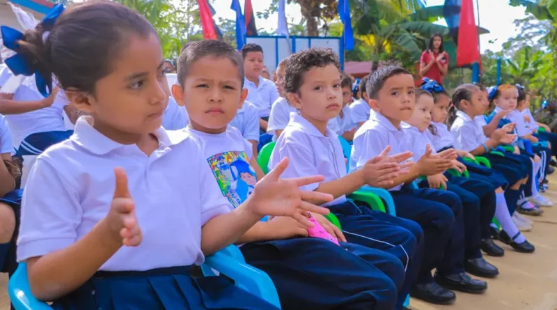
[[[77,185],[38,157],[25,185],[17,261],[43,256],[72,245],[81,224]]]

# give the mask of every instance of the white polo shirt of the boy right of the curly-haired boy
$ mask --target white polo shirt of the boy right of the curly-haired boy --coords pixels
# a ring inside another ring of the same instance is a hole
[[[356,134],[350,155],[350,171],[360,169],[368,160],[381,154],[387,147],[391,146],[389,155],[404,153],[409,150],[407,142],[408,135],[405,130],[396,128],[391,121],[379,113],[370,114],[370,119],[363,123]],[[409,159],[411,160],[411,159]],[[402,185],[395,186],[389,190],[398,190]]]

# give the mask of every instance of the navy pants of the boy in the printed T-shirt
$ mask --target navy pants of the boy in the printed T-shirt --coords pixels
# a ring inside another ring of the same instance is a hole
[[[395,309],[405,279],[392,254],[318,238],[252,242],[246,263],[273,280],[282,309]]]

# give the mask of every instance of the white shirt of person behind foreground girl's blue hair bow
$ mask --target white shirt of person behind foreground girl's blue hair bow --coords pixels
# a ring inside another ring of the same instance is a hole
[[[0,80],[7,80],[13,73],[6,67],[2,70],[0,75]],[[26,77],[13,96],[13,100],[16,101],[36,101],[42,99],[45,99],[45,96],[39,93],[34,75]],[[70,104],[70,102],[65,99],[63,91],[60,91],[50,107],[24,114],[6,115],[12,132],[13,147],[16,149],[19,148],[19,144],[30,134],[58,130],[65,131],[66,128],[62,114],[64,107],[68,104]]]

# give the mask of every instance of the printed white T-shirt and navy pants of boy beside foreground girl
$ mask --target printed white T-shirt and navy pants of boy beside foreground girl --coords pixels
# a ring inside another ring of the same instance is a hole
[[[240,206],[257,182],[249,164],[251,144],[231,126],[221,134],[185,131],[203,149],[219,184],[215,194],[228,199],[230,210]],[[351,243],[339,247],[320,238],[290,238],[240,249],[247,263],[269,274],[283,309],[394,309],[404,279],[397,258]]]

